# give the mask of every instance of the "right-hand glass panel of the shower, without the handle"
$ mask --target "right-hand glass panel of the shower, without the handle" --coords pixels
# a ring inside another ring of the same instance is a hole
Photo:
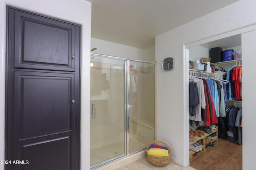
[[[154,140],[155,64],[129,62],[128,153],[138,152]]]

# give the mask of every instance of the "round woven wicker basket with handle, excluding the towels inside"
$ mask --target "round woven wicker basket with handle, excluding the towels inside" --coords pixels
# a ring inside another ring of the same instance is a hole
[[[162,144],[166,145],[167,148],[168,148],[169,156],[151,156],[151,155],[148,155],[148,148],[151,144],[154,144],[154,143],[162,143]],[[148,146],[146,148],[146,157],[147,157],[148,162],[150,164],[154,165],[154,166],[167,166],[168,164],[170,164],[170,162],[172,160],[171,149],[168,146],[168,144],[166,144],[162,141],[159,141],[159,140],[154,140],[153,142],[148,144]]]

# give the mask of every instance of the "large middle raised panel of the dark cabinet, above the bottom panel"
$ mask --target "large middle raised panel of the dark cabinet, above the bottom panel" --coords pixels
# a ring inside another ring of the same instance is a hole
[[[20,125],[20,139],[72,130],[72,99],[74,74],[14,71],[14,121]]]

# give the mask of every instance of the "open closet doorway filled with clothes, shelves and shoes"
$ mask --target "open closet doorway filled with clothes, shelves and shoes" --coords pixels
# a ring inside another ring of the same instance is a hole
[[[232,56],[224,59],[227,51]],[[189,60],[189,162],[193,168],[206,169],[210,162],[216,162],[218,169],[219,162],[225,164],[224,161],[228,162],[229,159],[236,159],[234,166],[242,168],[243,87],[240,54],[241,34],[186,48]],[[230,147],[232,154],[224,155],[224,152],[228,153],[225,150],[230,151]],[[232,158],[233,154],[236,157]],[[222,156],[215,158],[213,155]],[[223,160],[225,156],[227,160]],[[205,162],[210,157],[210,161]]]

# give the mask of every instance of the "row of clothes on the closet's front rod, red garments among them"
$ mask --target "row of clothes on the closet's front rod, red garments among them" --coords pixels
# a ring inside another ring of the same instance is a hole
[[[222,73],[221,73],[222,74]],[[198,74],[196,74],[198,75]],[[199,73],[204,77],[204,73]],[[226,80],[218,78],[218,74],[206,73],[206,77],[214,78],[197,78],[190,74],[189,82],[189,119],[192,121],[204,121],[206,126],[218,124],[218,117],[225,117],[225,97]],[[222,77],[222,76],[221,76]]]

